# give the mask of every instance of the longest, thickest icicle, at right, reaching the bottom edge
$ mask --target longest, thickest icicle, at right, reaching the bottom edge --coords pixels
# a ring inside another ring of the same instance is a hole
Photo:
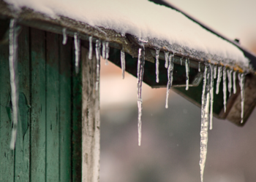
[[[206,165],[207,143],[208,143],[208,119],[209,119],[209,101],[210,101],[210,71],[207,66],[203,74],[203,91],[201,106],[201,130],[200,130],[200,177],[203,182],[203,172]]]

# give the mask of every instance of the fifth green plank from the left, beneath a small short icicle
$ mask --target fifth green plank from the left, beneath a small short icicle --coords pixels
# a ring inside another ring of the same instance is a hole
[[[72,41],[59,45],[59,119],[60,119],[60,181],[71,181],[71,64]]]

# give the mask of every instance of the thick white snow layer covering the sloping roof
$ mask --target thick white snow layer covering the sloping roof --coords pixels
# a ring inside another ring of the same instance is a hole
[[[209,60],[249,67],[249,60],[235,45],[189,20],[181,12],[147,0],[4,0],[15,9],[27,7],[52,18],[69,17],[91,26],[101,26],[138,39],[149,40],[159,48],[189,55],[203,52]],[[160,41],[154,41],[160,40]],[[156,43],[157,42],[157,43]],[[181,49],[182,48],[182,49]],[[186,49],[185,49],[186,50]]]

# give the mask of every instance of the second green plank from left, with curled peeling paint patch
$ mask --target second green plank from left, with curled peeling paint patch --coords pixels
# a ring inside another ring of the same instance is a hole
[[[15,181],[29,181],[29,28],[18,37],[19,120],[15,143]]]

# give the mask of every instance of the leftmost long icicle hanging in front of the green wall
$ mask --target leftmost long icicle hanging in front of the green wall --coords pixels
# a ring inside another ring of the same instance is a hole
[[[9,30],[9,66],[10,66],[10,85],[11,85],[11,100],[12,100],[12,138],[10,149],[15,149],[15,142],[18,127],[18,33],[15,29],[16,20],[10,20]]]

